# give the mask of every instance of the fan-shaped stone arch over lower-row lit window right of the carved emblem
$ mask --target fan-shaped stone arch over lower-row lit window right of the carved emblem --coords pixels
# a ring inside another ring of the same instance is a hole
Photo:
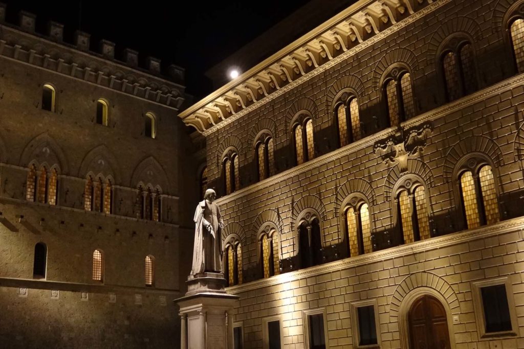
[[[456,163],[461,157],[474,152],[483,153],[488,156],[496,167],[503,165],[502,151],[495,141],[484,136],[467,137],[453,144],[450,150],[447,151],[443,165],[444,181],[450,181],[453,168],[455,168]]]

